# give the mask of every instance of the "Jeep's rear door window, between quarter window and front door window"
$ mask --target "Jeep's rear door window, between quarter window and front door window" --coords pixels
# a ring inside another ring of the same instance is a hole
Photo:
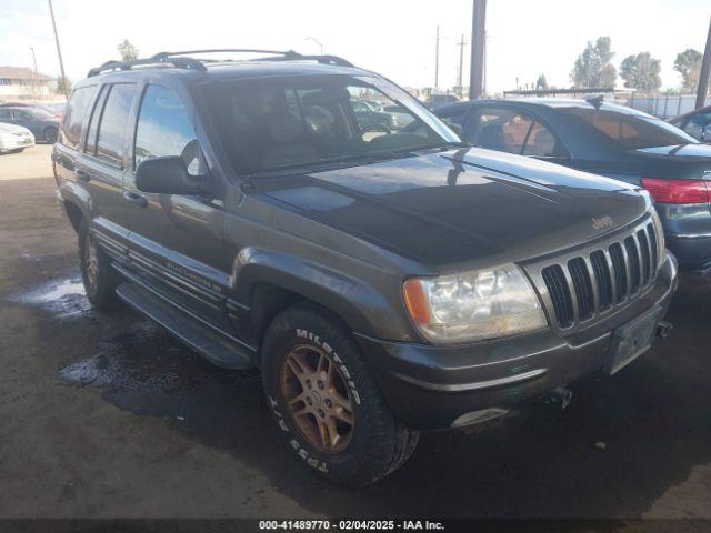
[[[132,83],[112,86],[101,113],[97,138],[97,157],[118,167],[123,160],[123,135],[134,92],[136,86]]]

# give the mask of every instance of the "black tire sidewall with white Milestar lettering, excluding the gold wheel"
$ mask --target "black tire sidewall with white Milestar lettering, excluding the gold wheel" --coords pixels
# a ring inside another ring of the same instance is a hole
[[[330,481],[359,486],[379,477],[389,466],[397,423],[368,375],[356,342],[349,336],[347,331],[308,310],[282,313],[270,325],[266,338],[262,379],[277,424],[297,456]],[[281,393],[280,371],[286,354],[298,344],[312,344],[327,352],[332,349],[332,362],[339,366],[350,389],[356,424],[351,442],[343,452],[319,451],[289,415]]]

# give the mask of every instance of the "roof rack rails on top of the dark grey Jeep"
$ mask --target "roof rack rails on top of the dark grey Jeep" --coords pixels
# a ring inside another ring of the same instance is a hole
[[[339,58],[338,56],[303,56],[293,50],[256,50],[246,48],[217,48],[211,50],[184,50],[180,52],[158,52],[147,59],[136,59],[133,61],[107,61],[100,67],[96,67],[89,71],[88,77],[103,74],[106,72],[114,72],[117,70],[131,70],[133,67],[147,66],[172,66],[179,69],[208,70],[204,63],[216,60],[196,59],[191,56],[201,53],[268,53],[272,57],[256,58],[251,61],[317,61],[322,64],[332,64],[336,67],[353,67],[350,61]],[[233,61],[233,60],[226,60]]]

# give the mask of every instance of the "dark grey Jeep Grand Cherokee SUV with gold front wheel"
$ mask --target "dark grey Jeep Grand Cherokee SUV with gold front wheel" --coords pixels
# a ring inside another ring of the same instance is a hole
[[[89,300],[261,369],[313,471],[373,482],[422,430],[650,346],[675,262],[647,193],[464,147],[339,58],[198,56],[109,62],[76,86],[58,199]],[[373,94],[415,125],[364,129],[353,102]]]

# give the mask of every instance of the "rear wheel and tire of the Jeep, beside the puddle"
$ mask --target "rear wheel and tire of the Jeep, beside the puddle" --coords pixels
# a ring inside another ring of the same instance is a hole
[[[91,305],[100,310],[116,309],[120,305],[116,295],[116,288],[120,283],[119,275],[83,219],[79,223],[79,266]]]

